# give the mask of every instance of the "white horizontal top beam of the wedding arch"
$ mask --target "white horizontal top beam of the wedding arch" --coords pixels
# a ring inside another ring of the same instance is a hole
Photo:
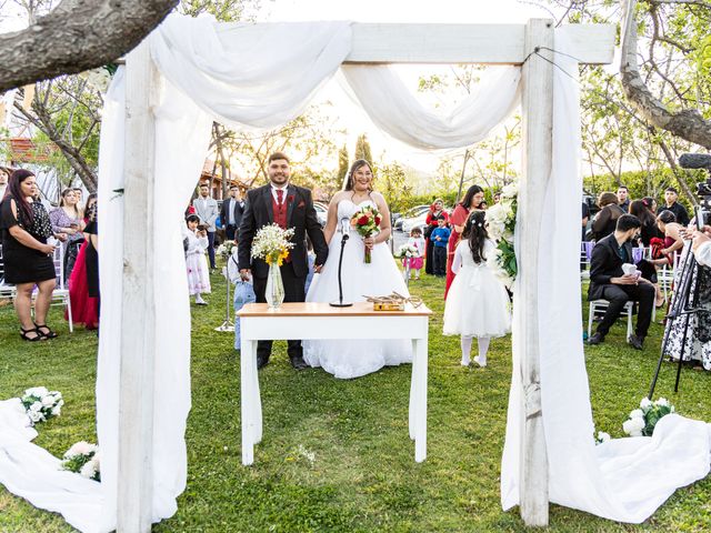
[[[379,24],[353,23],[353,48],[347,63],[522,64],[525,24]],[[611,63],[612,24],[570,24],[570,51],[580,63]],[[552,47],[551,47],[552,48]]]

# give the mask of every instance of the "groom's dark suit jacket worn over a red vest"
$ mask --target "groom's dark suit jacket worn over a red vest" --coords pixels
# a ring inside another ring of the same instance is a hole
[[[251,269],[256,278],[267,278],[269,265],[261,259],[251,258],[252,240],[260,228],[271,224],[273,221],[271,184],[249,191],[240,225],[238,257],[240,269]],[[323,264],[329,255],[329,247],[326,244],[326,238],[316,215],[309,189],[289,184],[287,189],[287,228],[294,229],[291,240],[294,247],[290,250],[293,271],[299,278],[306,278],[309,272],[307,233],[313,244],[316,264]]]

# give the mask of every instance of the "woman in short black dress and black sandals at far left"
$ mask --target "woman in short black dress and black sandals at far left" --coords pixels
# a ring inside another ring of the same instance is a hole
[[[57,283],[52,253],[47,240],[52,234],[44,207],[34,201],[37,183],[29,170],[16,170],[10,175],[8,191],[0,203],[0,230],[4,280],[17,288],[14,310],[20,320],[20,336],[39,341],[57,336],[47,326],[47,312]],[[30,314],[32,290],[38,288],[34,320]]]

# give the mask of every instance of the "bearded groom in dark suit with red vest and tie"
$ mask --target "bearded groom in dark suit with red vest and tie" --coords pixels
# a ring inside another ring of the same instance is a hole
[[[309,234],[316,252],[314,272],[320,272],[329,254],[329,248],[313,209],[311,191],[289,183],[291,177],[289,158],[282,152],[274,152],[269,157],[268,164],[270,183],[247,193],[239,233],[240,275],[242,279],[248,279],[251,273],[257,301],[266,303],[264,292],[269,265],[261,259],[251,258],[252,240],[260,228],[271,223],[277,223],[284,230],[293,228],[294,235],[291,242],[294,247],[289,250],[289,257],[281,265],[281,278],[284,284],[284,302],[303,302],[304,283],[309,273],[306,234]],[[257,343],[258,369],[269,362],[271,342]],[[301,370],[308,366],[303,361],[301,341],[289,341],[287,351],[294,369]]]

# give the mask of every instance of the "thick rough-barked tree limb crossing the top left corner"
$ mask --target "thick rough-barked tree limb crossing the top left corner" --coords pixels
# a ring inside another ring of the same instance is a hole
[[[0,93],[114,61],[178,0],[63,0],[22,31],[0,34]]]

